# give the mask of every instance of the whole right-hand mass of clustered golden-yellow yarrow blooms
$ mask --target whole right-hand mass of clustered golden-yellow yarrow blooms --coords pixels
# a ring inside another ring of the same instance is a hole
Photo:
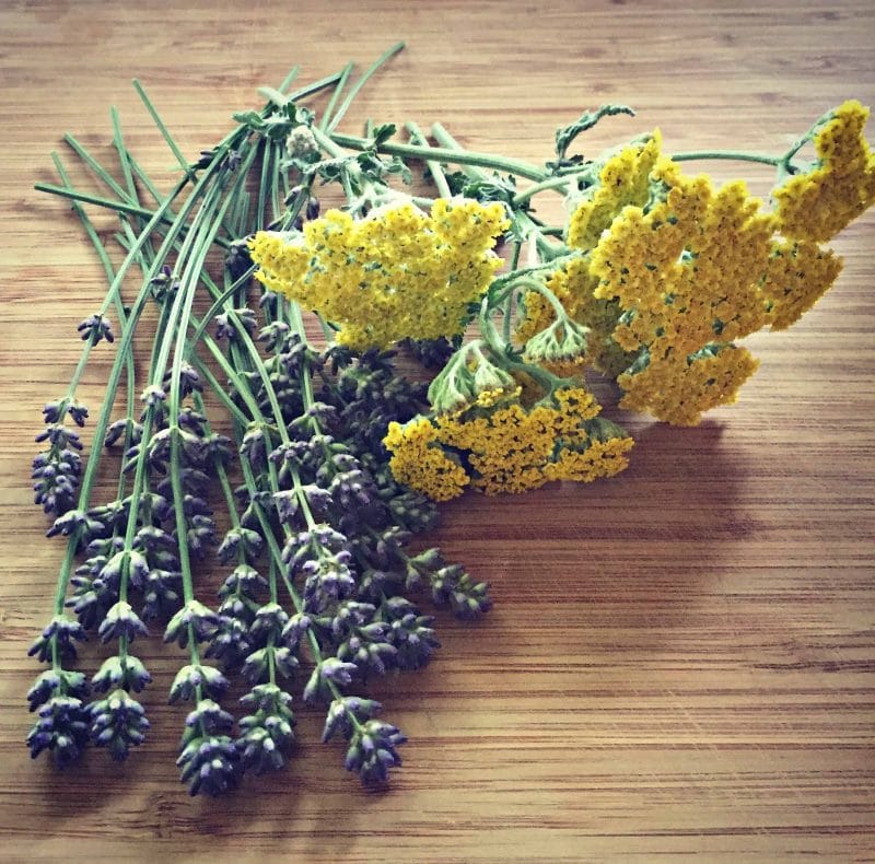
[[[822,296],[841,262],[817,241],[875,201],[866,115],[845,103],[815,125],[805,140],[819,167],[777,187],[774,212],[743,182],[685,175],[658,131],[609,155],[572,198],[567,241],[581,256],[547,287],[590,328],[588,361],[617,380],[621,407],[692,425],[736,400],[758,365],[736,341],[789,327]],[[518,332],[532,338],[556,316],[536,292],[524,303]]]

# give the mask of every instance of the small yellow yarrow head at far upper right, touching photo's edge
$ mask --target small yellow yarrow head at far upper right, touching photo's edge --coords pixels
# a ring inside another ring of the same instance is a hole
[[[843,103],[815,124],[817,162],[772,191],[785,237],[828,241],[875,205],[875,153],[863,135],[868,108]]]

